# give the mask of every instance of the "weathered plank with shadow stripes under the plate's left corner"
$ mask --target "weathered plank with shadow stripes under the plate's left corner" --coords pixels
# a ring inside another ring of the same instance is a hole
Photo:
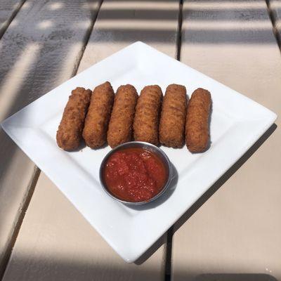
[[[98,1],[26,1],[0,41],[0,122],[72,76]],[[0,268],[34,164],[0,129]],[[1,273],[0,273],[1,275]]]

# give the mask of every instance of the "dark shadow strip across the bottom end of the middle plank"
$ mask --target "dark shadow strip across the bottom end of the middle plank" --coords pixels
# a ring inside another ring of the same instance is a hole
[[[48,252],[49,253],[49,252]],[[69,252],[71,253],[71,251]],[[72,252],[69,256],[60,254],[49,255],[34,253],[17,256],[17,261],[11,261],[4,273],[3,280],[28,280],[28,281],[152,281],[162,280],[159,263],[142,268],[129,265],[117,259],[104,259],[100,254],[96,259],[83,256],[79,251]],[[116,262],[117,261],[117,262]]]

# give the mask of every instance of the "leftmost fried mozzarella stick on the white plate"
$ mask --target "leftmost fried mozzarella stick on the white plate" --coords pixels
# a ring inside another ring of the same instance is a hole
[[[91,93],[91,90],[79,87],[71,92],[56,136],[58,146],[63,150],[79,148]]]

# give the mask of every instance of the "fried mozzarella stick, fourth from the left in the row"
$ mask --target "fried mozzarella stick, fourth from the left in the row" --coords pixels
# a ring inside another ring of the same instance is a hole
[[[157,85],[145,86],[136,105],[133,120],[133,136],[135,141],[146,141],[159,144],[158,127],[163,94]]]

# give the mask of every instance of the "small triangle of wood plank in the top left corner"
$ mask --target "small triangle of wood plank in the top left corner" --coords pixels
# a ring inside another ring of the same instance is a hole
[[[25,0],[2,0],[0,5],[0,38]]]

